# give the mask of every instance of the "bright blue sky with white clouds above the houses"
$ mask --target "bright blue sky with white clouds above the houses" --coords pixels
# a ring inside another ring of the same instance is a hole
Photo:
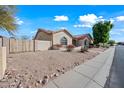
[[[110,39],[124,41],[124,6],[23,5],[17,6],[17,9],[17,37],[26,35],[31,38],[38,28],[54,31],[65,28],[72,35],[92,34],[92,25],[97,21],[111,20],[114,28]],[[6,32],[1,31],[0,34],[8,36]]]

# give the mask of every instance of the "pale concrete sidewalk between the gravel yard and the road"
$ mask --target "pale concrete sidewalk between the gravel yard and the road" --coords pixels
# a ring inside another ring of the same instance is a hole
[[[114,57],[115,47],[50,81],[45,88],[103,88]]]

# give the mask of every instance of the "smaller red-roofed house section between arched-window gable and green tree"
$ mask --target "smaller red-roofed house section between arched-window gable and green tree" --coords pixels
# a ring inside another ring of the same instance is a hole
[[[92,36],[90,34],[76,35],[73,36],[73,44],[75,46],[88,46],[93,43]]]

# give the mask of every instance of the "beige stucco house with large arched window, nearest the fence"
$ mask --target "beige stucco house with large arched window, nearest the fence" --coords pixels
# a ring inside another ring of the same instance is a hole
[[[72,44],[72,35],[65,29],[59,31],[50,31],[44,29],[38,29],[35,40],[51,41],[52,45],[70,45]]]

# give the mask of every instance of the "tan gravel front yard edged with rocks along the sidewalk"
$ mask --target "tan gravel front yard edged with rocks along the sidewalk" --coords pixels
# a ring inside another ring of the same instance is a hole
[[[0,87],[43,87],[48,80],[64,74],[104,50],[103,48],[92,48],[85,53],[49,50],[10,54]]]

